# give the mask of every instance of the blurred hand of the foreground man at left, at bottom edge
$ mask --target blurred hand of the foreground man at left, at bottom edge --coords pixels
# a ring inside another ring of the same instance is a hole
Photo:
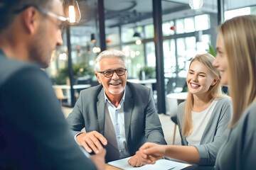
[[[99,152],[97,154],[90,156],[90,159],[95,164],[98,170],[105,170],[105,154],[106,149],[99,149]]]

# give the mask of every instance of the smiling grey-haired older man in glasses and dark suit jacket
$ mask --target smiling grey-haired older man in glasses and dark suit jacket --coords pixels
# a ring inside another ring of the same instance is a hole
[[[130,157],[144,142],[166,144],[151,89],[127,82],[125,55],[117,50],[101,52],[95,60],[100,85],[81,91],[67,120],[76,140],[87,152],[104,145],[106,161]],[[80,130],[85,128],[86,132]],[[142,166],[137,156],[132,166]]]

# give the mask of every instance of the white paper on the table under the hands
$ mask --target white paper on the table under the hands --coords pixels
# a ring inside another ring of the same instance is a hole
[[[109,162],[108,164],[112,165],[112,166],[116,166],[119,169],[125,169],[125,170],[133,170],[133,169],[137,169],[137,170],[156,170],[156,169],[160,169],[160,170],[179,170],[179,169],[184,169],[187,166],[191,166],[191,164],[183,164],[180,162],[173,162],[167,159],[159,159],[156,161],[156,164],[146,164],[144,166],[141,167],[132,167],[128,164],[128,160],[131,157],[127,157],[124,159],[119,159],[117,161],[113,161],[113,162]]]

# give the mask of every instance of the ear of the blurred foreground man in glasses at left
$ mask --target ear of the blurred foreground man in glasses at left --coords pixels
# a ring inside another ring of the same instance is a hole
[[[26,8],[26,10],[21,13],[21,21],[25,30],[27,30],[29,34],[34,34],[40,23],[38,10],[33,6]]]

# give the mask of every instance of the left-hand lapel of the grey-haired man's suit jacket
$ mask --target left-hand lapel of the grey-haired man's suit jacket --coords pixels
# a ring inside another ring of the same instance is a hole
[[[100,91],[100,94],[97,97],[97,118],[99,121],[100,133],[104,135],[105,130],[105,97],[104,97],[104,88]]]

